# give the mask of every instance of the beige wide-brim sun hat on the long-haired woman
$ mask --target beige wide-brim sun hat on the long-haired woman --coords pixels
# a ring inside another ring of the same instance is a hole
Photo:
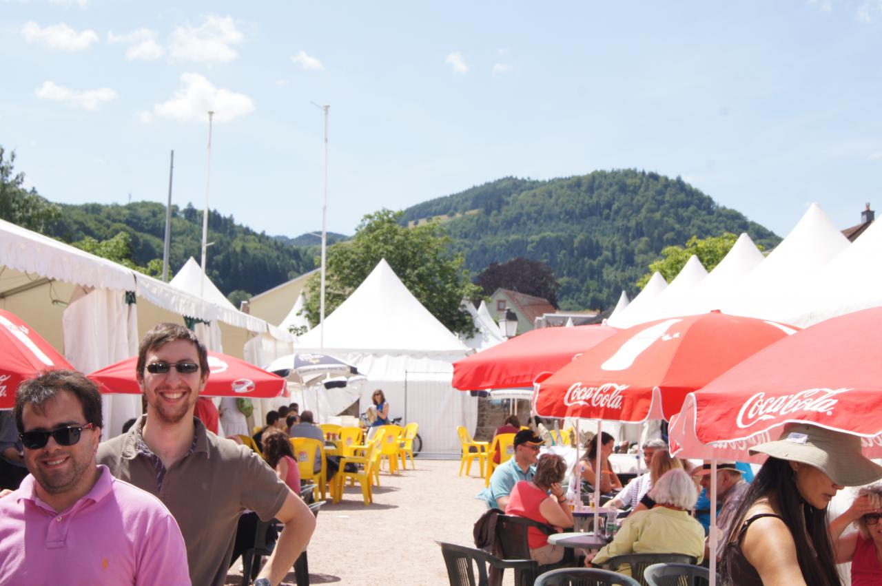
[[[804,423],[789,424],[777,441],[760,443],[750,453],[809,464],[840,486],[861,486],[882,478],[882,466],[863,456],[861,438]]]

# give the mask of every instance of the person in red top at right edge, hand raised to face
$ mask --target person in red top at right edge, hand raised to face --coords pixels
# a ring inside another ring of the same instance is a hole
[[[830,523],[836,563],[851,562],[852,586],[882,584],[882,485],[864,486],[848,510]],[[856,531],[841,535],[848,524]]]

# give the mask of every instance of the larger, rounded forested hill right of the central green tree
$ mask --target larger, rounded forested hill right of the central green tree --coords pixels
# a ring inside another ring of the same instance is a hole
[[[467,267],[517,256],[554,271],[561,308],[609,308],[662,248],[724,232],[750,234],[766,248],[781,239],[722,207],[680,177],[633,169],[546,182],[507,177],[408,208],[404,221],[441,219]]]

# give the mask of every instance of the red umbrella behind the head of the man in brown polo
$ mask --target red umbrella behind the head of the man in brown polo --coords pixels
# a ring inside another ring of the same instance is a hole
[[[138,357],[132,356],[109,367],[99,368],[89,378],[101,385],[102,393],[141,392],[135,378]],[[208,382],[202,397],[272,398],[287,394],[285,379],[244,360],[221,352],[208,352]]]

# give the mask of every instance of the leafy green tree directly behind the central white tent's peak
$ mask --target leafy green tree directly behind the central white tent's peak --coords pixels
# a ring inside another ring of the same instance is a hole
[[[328,248],[325,277],[325,315],[362,284],[385,258],[401,282],[432,315],[454,332],[474,331],[471,316],[460,310],[463,299],[480,293],[463,269],[461,254],[450,252],[450,239],[437,222],[408,229],[400,211],[381,210],[363,217],[351,241]],[[306,284],[306,315],[318,323],[318,274]]]

